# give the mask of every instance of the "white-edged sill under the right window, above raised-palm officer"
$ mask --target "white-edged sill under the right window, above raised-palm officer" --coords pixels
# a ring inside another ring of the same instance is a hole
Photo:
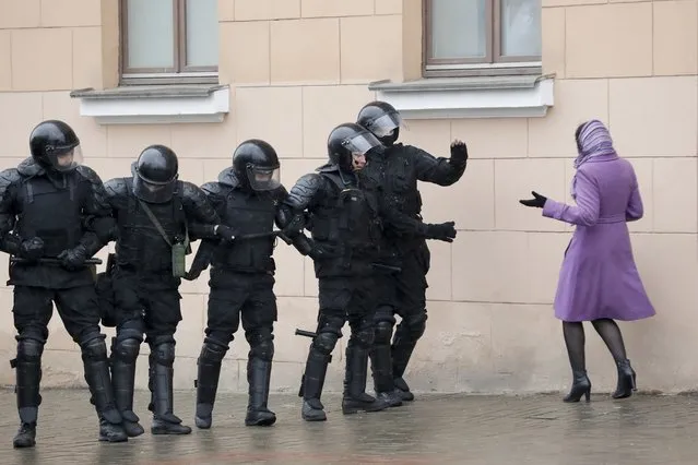
[[[422,79],[368,85],[405,119],[544,117],[555,74]]]

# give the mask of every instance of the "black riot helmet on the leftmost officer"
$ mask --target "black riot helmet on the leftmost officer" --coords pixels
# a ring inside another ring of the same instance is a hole
[[[82,163],[75,131],[59,120],[43,121],[34,128],[29,135],[29,151],[34,162],[47,170],[66,172]]]

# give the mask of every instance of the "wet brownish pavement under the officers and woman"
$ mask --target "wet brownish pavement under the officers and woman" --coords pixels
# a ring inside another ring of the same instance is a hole
[[[343,416],[340,397],[323,398],[328,421],[299,418],[299,398],[272,394],[279,420],[244,426],[247,398],[222,394],[211,430],[186,437],[146,433],[128,443],[96,441],[88,393],[47,390],[37,445],[12,449],[14,397],[0,391],[0,464],[565,464],[698,463],[698,397],[636,395],[564,404],[560,394],[533,396],[421,395],[404,407]],[[137,394],[150,427],[147,393]],[[193,392],[177,392],[176,410],[193,427]]]

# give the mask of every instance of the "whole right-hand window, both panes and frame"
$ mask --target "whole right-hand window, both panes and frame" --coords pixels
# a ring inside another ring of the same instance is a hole
[[[425,75],[541,68],[541,0],[424,0]]]

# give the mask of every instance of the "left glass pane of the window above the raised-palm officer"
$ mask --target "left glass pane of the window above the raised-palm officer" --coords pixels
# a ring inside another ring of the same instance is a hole
[[[430,58],[487,55],[486,0],[431,0]]]

